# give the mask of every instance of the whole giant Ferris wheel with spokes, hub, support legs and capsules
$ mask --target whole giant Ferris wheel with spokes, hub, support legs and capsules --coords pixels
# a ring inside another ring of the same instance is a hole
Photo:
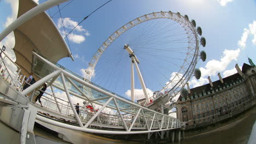
[[[86,69],[85,79],[132,101],[154,91],[180,94],[191,76],[200,79],[196,64],[206,59],[206,40],[195,20],[179,12],[160,11],[137,17],[110,35]],[[136,69],[136,70],[135,70]],[[137,73],[136,73],[136,72]],[[141,91],[139,91],[141,89]]]

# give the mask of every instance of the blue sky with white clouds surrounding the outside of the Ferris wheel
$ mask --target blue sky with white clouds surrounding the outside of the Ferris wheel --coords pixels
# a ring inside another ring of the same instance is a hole
[[[45,0],[39,0],[37,2],[43,3]],[[76,22],[80,22],[83,17],[106,2],[105,0],[72,1],[61,10],[61,15],[66,17],[66,30],[70,31]],[[67,3],[60,4],[60,8]],[[9,22],[7,21],[11,21],[11,18],[14,17],[13,13],[16,11],[14,9],[15,5],[17,5],[16,0],[0,1],[0,32],[8,25]],[[53,16],[57,10],[57,7],[54,7],[47,10],[46,13]],[[69,35],[70,49],[75,61],[71,61],[70,58],[63,58],[59,63],[75,73],[83,75],[82,71],[88,67],[88,63],[94,53],[113,32],[136,17],[161,10],[171,10],[174,13],[179,11],[182,15],[187,14],[190,20],[194,19],[197,26],[202,28],[202,35],[206,38],[206,47],[201,47],[201,50],[205,50],[207,53],[206,62],[200,61],[196,66],[201,69],[202,78],[195,80],[193,77],[189,82],[190,87],[207,83],[207,76],[211,76],[212,81],[215,81],[218,80],[217,73],[220,73],[223,77],[236,73],[234,69],[235,64],[238,63],[242,67],[243,63],[248,63],[247,57],[252,58],[254,62],[256,61],[256,1],[113,0],[97,10],[79,28],[73,31],[73,34]],[[60,15],[57,13],[53,16],[53,21],[60,27],[60,31],[63,31],[62,23],[59,23],[59,18]],[[11,47],[13,43],[10,40],[11,38],[5,39],[1,43]],[[147,73],[147,71],[144,70],[144,73]],[[96,73],[95,76],[97,77],[98,75]],[[171,77],[171,71],[166,76]],[[130,80],[130,78],[127,79]],[[147,79],[150,79],[150,76]],[[142,93],[140,90],[141,87],[139,86],[138,80],[135,81],[136,88],[138,89],[137,94],[139,95]],[[150,80],[145,81],[151,91],[157,89],[150,84],[152,83]],[[95,82],[101,83],[99,81]],[[162,85],[164,83],[162,81]],[[108,87],[106,82],[102,82],[101,86]],[[129,89],[129,87],[121,90],[113,88],[113,91],[125,95],[125,92]]]

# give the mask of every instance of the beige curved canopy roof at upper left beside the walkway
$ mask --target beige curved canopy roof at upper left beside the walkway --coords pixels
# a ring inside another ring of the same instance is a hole
[[[32,0],[20,0],[18,17],[36,7]],[[53,62],[72,57],[65,40],[54,22],[45,12],[38,14],[14,30],[16,64],[21,73],[29,75],[32,68],[32,52],[36,51]]]

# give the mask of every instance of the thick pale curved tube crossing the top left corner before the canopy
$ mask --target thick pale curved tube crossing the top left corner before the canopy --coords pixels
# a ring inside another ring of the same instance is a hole
[[[7,37],[8,34],[10,34],[12,31],[14,31],[14,29],[18,28],[27,20],[42,13],[46,9],[54,7],[54,5],[57,5],[66,1],[68,0],[50,0],[37,5],[31,10],[28,10],[25,14],[18,17],[13,23],[11,23],[7,28],[4,29],[4,31],[0,34],[0,41],[2,41],[5,37]]]

